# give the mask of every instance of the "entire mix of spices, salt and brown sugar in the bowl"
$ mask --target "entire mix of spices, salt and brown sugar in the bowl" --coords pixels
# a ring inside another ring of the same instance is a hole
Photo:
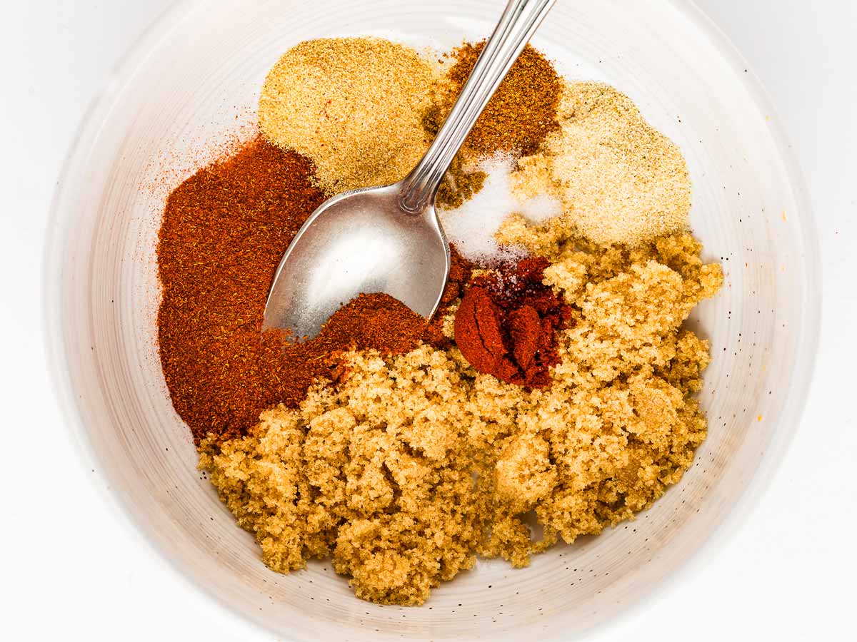
[[[689,232],[684,159],[628,98],[529,46],[441,188],[434,318],[365,293],[312,340],[262,331],[303,221],[405,175],[481,48],[297,45],[258,138],[177,187],[161,223],[160,357],[201,469],[270,568],[330,557],[377,603],[632,519],[705,437],[709,346],[684,321],[722,272]]]

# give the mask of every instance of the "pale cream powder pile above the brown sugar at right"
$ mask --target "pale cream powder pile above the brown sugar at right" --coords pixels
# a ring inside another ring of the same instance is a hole
[[[596,243],[636,244],[688,229],[685,159],[630,98],[602,83],[566,83],[558,120],[560,131],[518,162],[515,193],[560,198],[563,221]]]

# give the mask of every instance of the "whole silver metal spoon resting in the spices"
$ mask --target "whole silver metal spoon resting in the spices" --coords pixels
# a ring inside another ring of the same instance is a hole
[[[434,195],[500,80],[555,0],[509,0],[494,33],[423,159],[404,180],[325,201],[285,251],[265,307],[265,328],[315,336],[358,294],[384,292],[429,318],[449,274],[449,244]]]

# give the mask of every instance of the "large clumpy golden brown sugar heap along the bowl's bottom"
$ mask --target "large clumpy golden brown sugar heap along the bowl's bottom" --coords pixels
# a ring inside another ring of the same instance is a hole
[[[264,562],[333,557],[358,597],[423,603],[475,556],[514,566],[650,506],[692,463],[709,362],[682,327],[722,282],[690,235],[638,247],[542,241],[572,306],[548,388],[474,370],[457,348],[353,352],[336,389],[201,444],[206,470]],[[534,541],[528,514],[542,525]]]

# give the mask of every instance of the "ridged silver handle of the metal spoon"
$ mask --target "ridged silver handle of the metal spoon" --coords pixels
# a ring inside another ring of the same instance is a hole
[[[554,2],[509,0],[446,122],[423,159],[402,181],[399,205],[405,212],[419,214],[434,203],[434,194],[452,158]]]

